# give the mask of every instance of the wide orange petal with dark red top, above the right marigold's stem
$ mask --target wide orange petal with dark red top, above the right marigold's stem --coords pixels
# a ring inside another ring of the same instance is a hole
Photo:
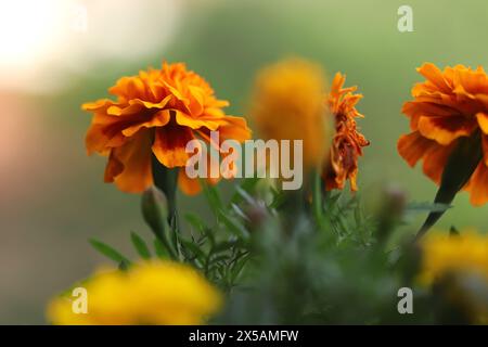
[[[419,131],[427,139],[447,145],[462,136],[470,136],[476,124],[462,116],[420,117]]]

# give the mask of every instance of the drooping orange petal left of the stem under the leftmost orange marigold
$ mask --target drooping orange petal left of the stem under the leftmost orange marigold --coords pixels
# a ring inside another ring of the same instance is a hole
[[[113,178],[118,189],[128,193],[139,193],[153,183],[151,172],[151,136],[147,130],[139,131],[130,141],[120,147],[112,150],[112,155],[124,169]],[[114,168],[107,171],[118,172],[118,164],[111,164]],[[108,176],[110,177],[110,176]]]

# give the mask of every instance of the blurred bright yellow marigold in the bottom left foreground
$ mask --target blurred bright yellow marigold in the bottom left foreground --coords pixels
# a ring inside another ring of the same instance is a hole
[[[88,312],[75,313],[70,293],[48,306],[54,324],[202,324],[218,311],[220,294],[194,269],[170,261],[151,261],[128,271],[102,271],[81,285]]]

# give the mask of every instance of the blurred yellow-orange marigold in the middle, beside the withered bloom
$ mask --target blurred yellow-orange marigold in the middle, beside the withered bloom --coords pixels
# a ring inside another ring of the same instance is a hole
[[[326,153],[324,93],[322,69],[299,59],[269,66],[256,79],[257,128],[266,139],[303,140],[305,169],[320,167]]]

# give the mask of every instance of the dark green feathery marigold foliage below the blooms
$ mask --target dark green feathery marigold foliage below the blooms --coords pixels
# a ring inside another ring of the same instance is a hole
[[[202,184],[213,220],[187,214],[189,227],[181,230],[178,216],[162,213],[162,233],[147,210],[160,210],[157,204],[164,209],[165,203],[143,196],[152,201],[143,209],[155,240],[150,246],[132,232],[131,241],[142,259],[190,264],[220,287],[228,304],[215,323],[465,322],[462,314],[452,314],[448,301],[439,304],[416,284],[421,259],[411,240],[389,243],[408,214],[449,206],[406,204],[401,192],[386,191],[378,210],[367,213],[359,195],[323,193],[317,179],[297,192],[244,179],[228,201],[218,188]],[[155,192],[160,193],[145,194]],[[110,246],[97,241],[92,245],[123,268],[130,266]],[[397,310],[398,290],[406,286],[415,293],[415,314]]]

